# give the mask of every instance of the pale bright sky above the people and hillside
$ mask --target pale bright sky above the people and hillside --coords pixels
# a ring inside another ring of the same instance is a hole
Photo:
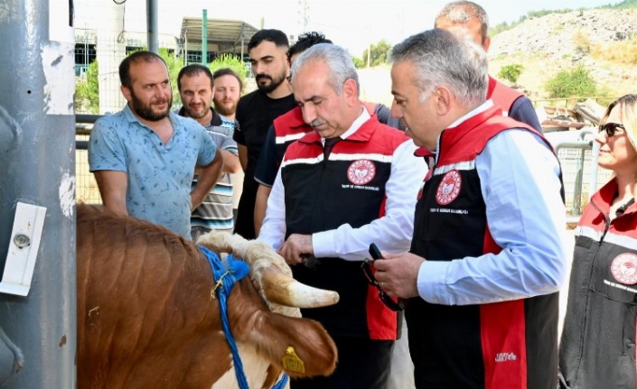
[[[97,0],[80,0],[78,15]],[[109,0],[99,0],[110,3]],[[121,0],[120,0],[121,1]],[[591,8],[620,0],[478,0],[489,15],[490,25],[515,22],[529,11]],[[319,31],[352,55],[361,57],[370,45],[384,39],[396,44],[407,36],[433,27],[436,14],[447,0],[157,0],[159,29],[170,26],[179,35],[183,16],[242,20],[256,28],[276,28],[287,35]],[[145,23],[146,0],[126,0],[126,20]],[[304,5],[306,11],[304,12]],[[304,17],[305,15],[305,17]],[[306,20],[306,23],[304,22]],[[127,22],[128,23],[128,22]],[[142,25],[144,25],[142,23]]]

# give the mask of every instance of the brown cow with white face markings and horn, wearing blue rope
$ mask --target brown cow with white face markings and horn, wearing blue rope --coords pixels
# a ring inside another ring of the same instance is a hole
[[[238,387],[219,300],[211,299],[211,267],[197,246],[163,227],[96,206],[78,205],[77,223],[78,388]],[[233,245],[233,253],[247,262],[272,259],[265,245],[238,236],[223,239],[211,248],[226,251]],[[264,284],[265,295],[286,294],[289,279],[279,273],[271,288],[267,274],[276,269],[255,268],[265,270],[253,276]],[[306,290],[301,298],[321,294]],[[338,297],[327,299],[332,301],[300,305],[335,303]],[[250,388],[271,387],[283,371],[291,377],[333,372],[336,347],[323,327],[268,310],[248,278],[230,292],[228,316]],[[284,368],[287,347],[294,347],[304,372]]]

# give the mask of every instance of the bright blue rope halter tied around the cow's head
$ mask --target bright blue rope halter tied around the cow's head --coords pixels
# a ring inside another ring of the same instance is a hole
[[[243,371],[243,363],[241,363],[241,357],[239,357],[239,350],[237,349],[237,343],[234,341],[234,337],[230,332],[230,322],[228,320],[228,296],[230,296],[230,290],[234,286],[235,282],[248,275],[248,264],[235,258],[233,255],[226,257],[226,266],[221,262],[219,255],[211,251],[207,247],[199,246],[203,255],[208,259],[208,263],[211,264],[212,277],[216,282],[214,288],[211,291],[211,297],[214,297],[215,293],[219,298],[219,309],[221,312],[221,323],[223,324],[223,334],[226,336],[228,346],[232,351],[232,361],[234,362],[234,371],[237,375],[237,382],[240,389],[249,389],[248,381],[246,380],[246,373]],[[283,389],[287,384],[287,375],[284,374],[279,382],[277,382],[272,389]]]

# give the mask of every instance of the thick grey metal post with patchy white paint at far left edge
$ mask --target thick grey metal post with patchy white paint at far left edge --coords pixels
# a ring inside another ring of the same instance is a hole
[[[9,14],[2,18],[0,36],[11,39],[0,40],[5,59],[0,67],[0,269],[13,252],[7,247],[14,242],[18,202],[46,208],[28,295],[0,293],[0,326],[24,357],[23,370],[3,389],[76,384],[72,4],[4,0],[2,5]]]

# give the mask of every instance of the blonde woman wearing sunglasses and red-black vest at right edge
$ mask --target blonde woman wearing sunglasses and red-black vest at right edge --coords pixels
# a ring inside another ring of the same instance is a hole
[[[559,352],[563,388],[635,388],[637,95],[615,100],[595,137],[614,172],[584,209]]]

